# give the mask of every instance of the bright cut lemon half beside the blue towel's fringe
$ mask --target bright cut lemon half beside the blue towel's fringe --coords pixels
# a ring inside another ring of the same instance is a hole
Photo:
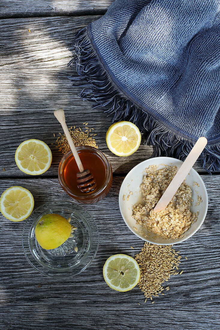
[[[136,125],[129,121],[119,121],[111,125],[106,133],[108,148],[117,156],[129,156],[141,143],[141,134]]]

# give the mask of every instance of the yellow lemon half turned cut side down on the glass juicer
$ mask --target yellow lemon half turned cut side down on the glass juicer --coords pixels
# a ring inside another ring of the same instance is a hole
[[[70,233],[70,223],[58,214],[43,215],[35,227],[36,240],[46,250],[58,248],[69,238]]]

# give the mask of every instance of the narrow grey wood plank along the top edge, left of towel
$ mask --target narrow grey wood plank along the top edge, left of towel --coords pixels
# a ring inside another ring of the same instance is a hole
[[[104,14],[114,0],[4,0],[0,18]]]

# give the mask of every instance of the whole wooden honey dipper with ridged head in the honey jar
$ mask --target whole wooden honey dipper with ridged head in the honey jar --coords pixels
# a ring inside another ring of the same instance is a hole
[[[96,190],[96,182],[95,179],[90,172],[90,170],[84,170],[83,164],[80,160],[80,157],[78,155],[78,152],[76,150],[76,147],[74,145],[74,142],[71,138],[70,132],[66,126],[66,120],[65,120],[65,115],[64,111],[62,108],[57,109],[54,111],[54,116],[56,119],[60,122],[62,125],[63,131],[65,133],[66,139],[69,143],[70,149],[73,153],[73,156],[75,158],[76,164],[79,168],[79,172],[76,174],[76,180],[77,180],[77,186],[78,188],[84,192],[84,193],[90,193],[92,191]]]

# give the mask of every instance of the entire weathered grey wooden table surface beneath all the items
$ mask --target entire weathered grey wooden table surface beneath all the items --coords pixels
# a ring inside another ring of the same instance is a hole
[[[209,176],[199,164],[194,167],[208,191],[208,213],[201,229],[176,246],[188,260],[181,264],[183,274],[169,281],[170,290],[152,305],[144,303],[138,287],[120,293],[103,280],[102,267],[110,255],[134,256],[143,246],[121,217],[118,193],[128,171],[153,152],[142,144],[128,158],[111,154],[105,143],[110,118],[103,109],[92,110],[90,102],[82,101],[77,96],[81,88],[72,87],[67,78],[74,74],[67,63],[72,58],[75,32],[104,14],[111,2],[1,1],[0,194],[21,185],[32,192],[35,208],[45,202],[69,200],[57,178],[61,155],[51,145],[53,133],[57,135],[61,129],[53,116],[58,107],[65,110],[69,125],[88,121],[95,128],[99,149],[111,161],[114,181],[103,201],[95,207],[85,206],[96,220],[100,244],[91,266],[69,280],[52,280],[32,269],[21,247],[24,223],[0,215],[0,329],[220,328],[220,175]],[[23,174],[14,160],[18,145],[30,138],[43,140],[53,153],[51,168],[39,177]]]

